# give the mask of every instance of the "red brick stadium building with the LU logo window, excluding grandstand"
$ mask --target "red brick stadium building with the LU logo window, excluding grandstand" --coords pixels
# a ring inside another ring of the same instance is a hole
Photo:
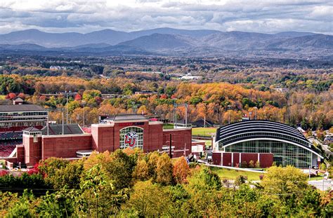
[[[191,153],[190,128],[164,130],[163,123],[150,121],[138,114],[117,115],[91,125],[91,133],[84,132],[77,124],[49,125],[39,130],[23,130],[22,146],[16,147],[16,156],[6,158],[9,162],[32,166],[50,157],[79,158],[91,151],[115,151],[117,149],[141,148],[144,152],[160,151],[172,157]]]

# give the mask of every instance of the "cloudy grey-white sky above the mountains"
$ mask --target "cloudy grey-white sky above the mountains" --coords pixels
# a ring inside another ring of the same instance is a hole
[[[333,0],[0,0],[0,34],[159,27],[333,34]]]

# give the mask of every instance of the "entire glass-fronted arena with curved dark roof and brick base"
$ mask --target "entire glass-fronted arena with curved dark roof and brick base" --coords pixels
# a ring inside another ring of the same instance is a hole
[[[242,167],[242,163],[259,161],[262,168],[294,165],[309,168],[318,165],[322,156],[299,132],[273,121],[241,121],[216,130],[213,163]]]

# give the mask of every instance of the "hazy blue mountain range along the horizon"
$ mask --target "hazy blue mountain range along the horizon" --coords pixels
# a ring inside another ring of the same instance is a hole
[[[174,55],[333,57],[333,36],[311,32],[220,32],[158,28],[137,32],[104,29],[88,34],[27,29],[0,34],[0,53],[68,55]]]

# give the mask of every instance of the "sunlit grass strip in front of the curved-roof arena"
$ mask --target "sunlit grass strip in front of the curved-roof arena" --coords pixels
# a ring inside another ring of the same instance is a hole
[[[224,168],[214,168],[211,167],[211,170],[215,172],[221,179],[235,179],[239,175],[247,176],[249,180],[259,180],[259,175],[263,174],[263,172],[247,172],[236,170],[229,170]]]

